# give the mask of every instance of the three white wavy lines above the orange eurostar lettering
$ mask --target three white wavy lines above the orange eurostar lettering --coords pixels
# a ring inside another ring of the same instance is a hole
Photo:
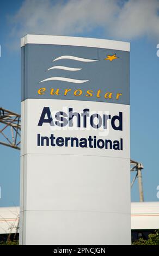
[[[97,62],[99,60],[97,59],[85,59],[85,58],[79,58],[76,56],[60,56],[54,60],[52,60],[52,62],[55,62],[56,60],[60,60],[60,59],[72,59],[72,60],[77,60],[78,62]],[[52,66],[51,68],[47,69],[46,71],[52,70],[52,69],[61,69],[61,70],[66,70],[66,71],[79,71],[82,70],[82,68],[71,68],[69,66]],[[46,81],[65,81],[65,82],[70,82],[70,83],[85,83],[88,82],[89,80],[78,80],[78,79],[73,79],[73,78],[67,78],[67,77],[49,77],[46,78],[42,81],[40,81],[39,83],[42,82],[46,82]]]

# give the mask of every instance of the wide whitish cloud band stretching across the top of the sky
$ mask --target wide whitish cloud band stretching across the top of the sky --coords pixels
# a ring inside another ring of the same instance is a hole
[[[156,36],[158,0],[25,0],[10,17],[11,36],[25,34],[82,35],[102,28],[115,39]]]

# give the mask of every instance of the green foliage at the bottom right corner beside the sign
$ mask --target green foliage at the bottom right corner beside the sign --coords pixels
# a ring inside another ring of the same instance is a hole
[[[132,245],[159,245],[159,230],[156,230],[154,234],[149,234],[148,240],[140,238],[134,241]]]

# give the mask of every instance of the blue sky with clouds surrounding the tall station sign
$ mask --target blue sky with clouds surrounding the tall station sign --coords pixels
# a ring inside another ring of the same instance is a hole
[[[89,11],[84,11],[89,5]],[[20,113],[20,38],[23,35],[61,34],[131,42],[131,159],[144,165],[145,201],[159,200],[156,197],[159,185],[158,8],[157,0],[99,0],[91,4],[90,0],[16,0],[1,1],[0,11],[1,106],[17,113]],[[0,157],[0,206],[19,205],[20,152],[0,145]],[[137,182],[131,192],[132,201],[138,201]]]

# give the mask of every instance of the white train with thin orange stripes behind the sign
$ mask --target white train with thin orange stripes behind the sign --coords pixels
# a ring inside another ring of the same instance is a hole
[[[19,234],[19,207],[0,208],[0,241]],[[119,220],[120,221],[120,220]],[[132,242],[159,229],[159,202],[131,203]]]

